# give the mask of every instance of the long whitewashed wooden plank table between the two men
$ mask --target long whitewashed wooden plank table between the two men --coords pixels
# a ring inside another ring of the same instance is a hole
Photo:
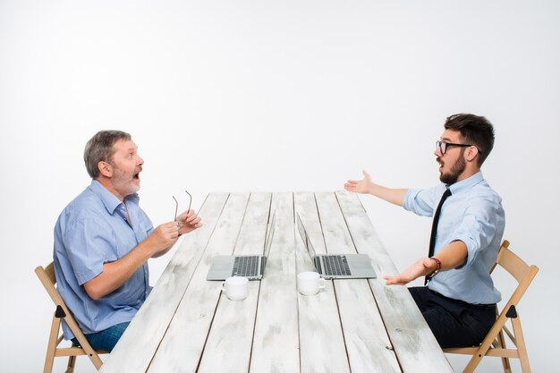
[[[230,301],[206,280],[215,255],[262,254],[261,281]],[[313,265],[295,227],[299,213],[317,253],[366,253],[377,279],[330,280],[296,290]],[[211,193],[203,227],[186,234],[102,372],[452,372],[354,193]]]

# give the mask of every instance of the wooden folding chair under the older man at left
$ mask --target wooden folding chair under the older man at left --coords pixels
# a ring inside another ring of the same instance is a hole
[[[56,306],[50,336],[48,338],[47,358],[45,359],[45,368],[43,369],[43,373],[52,372],[55,357],[59,356],[68,356],[68,367],[66,369],[66,373],[72,373],[74,371],[76,357],[80,355],[88,355],[89,360],[91,360],[96,369],[99,370],[103,365],[103,361],[99,358],[98,354],[107,352],[96,351],[91,347],[91,345],[89,345],[85,335],[81,332],[80,326],[78,326],[78,323],[73,318],[72,312],[66,307],[63,297],[55,288],[56,277],[54,263],[51,262],[47,267],[39,266],[35,268],[35,273],[43,286],[45,286],[48,295],[55,302]],[[75,335],[76,339],[78,339],[81,347],[76,345],[72,345],[72,347],[58,347],[58,345],[63,341],[63,335],[59,335],[60,324],[63,319],[66,324],[70,326],[70,330],[72,330],[73,335]]]

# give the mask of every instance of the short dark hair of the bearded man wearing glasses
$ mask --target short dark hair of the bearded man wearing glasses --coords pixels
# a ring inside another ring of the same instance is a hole
[[[494,148],[494,126],[484,116],[454,114],[447,117],[444,127],[445,130],[459,131],[464,141],[479,148],[479,166]]]

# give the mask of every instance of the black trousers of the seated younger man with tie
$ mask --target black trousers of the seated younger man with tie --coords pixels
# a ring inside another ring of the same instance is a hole
[[[496,304],[457,301],[428,286],[409,291],[441,348],[476,346],[496,321]]]

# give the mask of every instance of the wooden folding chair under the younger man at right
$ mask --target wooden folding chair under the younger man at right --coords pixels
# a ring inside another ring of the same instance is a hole
[[[496,266],[503,267],[515,278],[517,287],[509,301],[505,304],[504,309],[496,315],[496,323],[494,323],[494,326],[492,326],[488,335],[479,346],[444,350],[445,353],[472,355],[471,360],[462,371],[463,373],[473,372],[479,365],[480,360],[485,356],[502,358],[502,365],[504,366],[505,373],[512,372],[509,361],[510,358],[519,359],[522,372],[530,373],[529,355],[527,354],[525,340],[523,339],[522,324],[519,312],[517,311],[517,305],[519,301],[521,301],[530,283],[533,281],[533,278],[537,275],[537,272],[539,272],[539,267],[527,265],[521,258],[513,254],[508,247],[509,242],[504,240],[498,252],[496,264],[490,269],[490,273],[494,271]],[[508,319],[513,327],[513,333],[505,325]],[[515,348],[507,348],[504,333],[509,337],[510,342],[513,343]]]

